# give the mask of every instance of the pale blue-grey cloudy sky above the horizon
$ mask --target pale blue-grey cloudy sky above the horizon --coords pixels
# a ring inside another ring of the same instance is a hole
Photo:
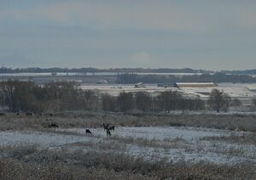
[[[0,0],[0,65],[256,69],[256,1]]]

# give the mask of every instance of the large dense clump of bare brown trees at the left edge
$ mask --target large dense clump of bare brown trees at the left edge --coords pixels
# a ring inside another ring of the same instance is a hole
[[[0,105],[12,112],[95,110],[97,98],[94,91],[82,91],[71,82],[51,82],[44,87],[34,82],[0,82]]]

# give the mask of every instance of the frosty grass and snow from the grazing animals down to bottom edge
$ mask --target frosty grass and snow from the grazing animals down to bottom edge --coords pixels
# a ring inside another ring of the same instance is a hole
[[[116,127],[0,132],[0,179],[255,179],[253,132]],[[243,140],[242,140],[243,139]]]

